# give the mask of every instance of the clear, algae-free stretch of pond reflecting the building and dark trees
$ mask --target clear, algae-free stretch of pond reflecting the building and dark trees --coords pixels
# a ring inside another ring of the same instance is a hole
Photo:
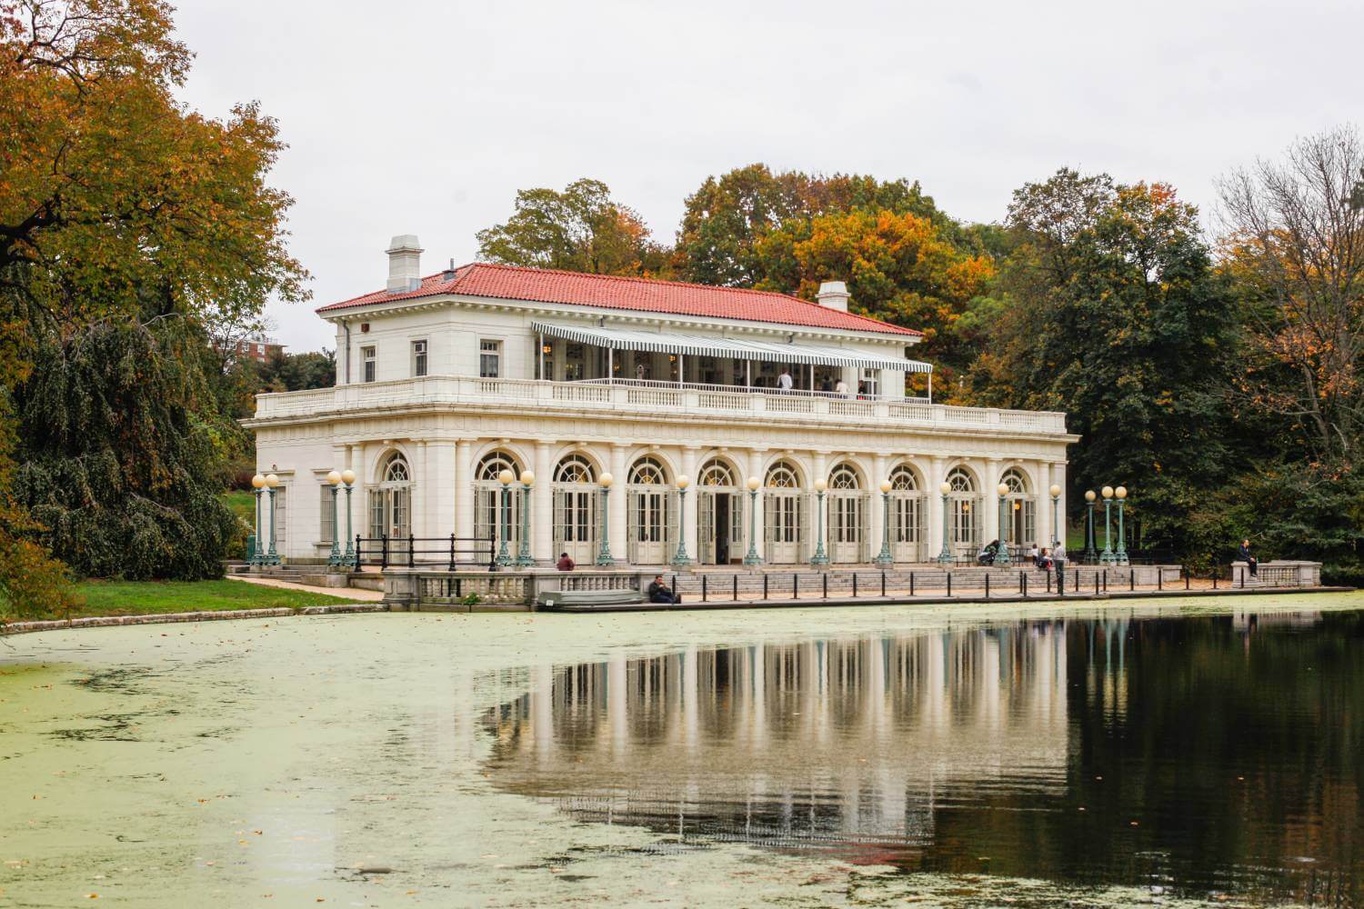
[[[484,718],[495,785],[670,842],[1364,905],[1360,613],[754,642],[503,681],[529,691]]]

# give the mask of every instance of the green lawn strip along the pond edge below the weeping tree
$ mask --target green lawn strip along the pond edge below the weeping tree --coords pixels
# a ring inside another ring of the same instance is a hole
[[[322,606],[351,602],[308,590],[266,587],[244,581],[82,581],[76,591],[85,605],[71,613],[80,616],[142,616],[158,612],[202,609],[271,609],[276,606]],[[64,617],[64,616],[53,616]]]

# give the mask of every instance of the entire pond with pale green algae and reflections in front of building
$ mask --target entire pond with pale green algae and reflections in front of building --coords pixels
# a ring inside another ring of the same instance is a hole
[[[0,904],[1364,906],[1361,606],[12,638]]]

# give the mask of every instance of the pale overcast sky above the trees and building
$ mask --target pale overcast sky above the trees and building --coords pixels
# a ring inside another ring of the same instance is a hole
[[[259,99],[289,149],[306,305],[293,350],[333,346],[315,307],[383,286],[416,233],[423,273],[471,262],[518,188],[577,177],[671,241],[708,176],[773,169],[919,180],[998,221],[1058,166],[1214,180],[1294,136],[1364,120],[1364,4],[374,3],[183,0],[184,99]]]

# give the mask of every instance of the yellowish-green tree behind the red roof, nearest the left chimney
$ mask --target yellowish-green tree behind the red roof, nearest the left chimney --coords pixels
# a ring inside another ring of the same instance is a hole
[[[563,192],[521,189],[506,224],[477,237],[483,259],[536,268],[651,275],[667,259],[644,219],[611,199],[604,183],[588,179],[570,183]]]

